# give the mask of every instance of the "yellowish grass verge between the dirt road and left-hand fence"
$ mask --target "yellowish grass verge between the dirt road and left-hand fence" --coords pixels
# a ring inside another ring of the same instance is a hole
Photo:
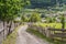
[[[18,36],[18,29],[20,26],[15,28],[15,30],[10,35],[8,35],[7,40],[4,40],[2,42],[2,44],[15,44],[15,40],[16,40],[16,36]]]

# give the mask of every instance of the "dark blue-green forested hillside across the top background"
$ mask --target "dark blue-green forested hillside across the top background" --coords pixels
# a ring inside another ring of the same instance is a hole
[[[31,0],[31,6],[26,8],[45,8],[45,7],[63,7],[66,0]]]

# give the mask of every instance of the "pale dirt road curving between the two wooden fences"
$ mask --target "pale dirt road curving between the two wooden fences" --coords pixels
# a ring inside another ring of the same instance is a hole
[[[46,41],[26,32],[28,25],[21,26],[18,31],[16,44],[48,44]]]

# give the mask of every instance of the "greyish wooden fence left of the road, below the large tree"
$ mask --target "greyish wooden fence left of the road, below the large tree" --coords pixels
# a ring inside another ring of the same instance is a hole
[[[19,25],[20,25],[20,23],[12,22],[10,32],[12,32],[14,30],[14,28],[16,28]],[[0,44],[2,44],[2,41],[6,40],[7,35],[9,34],[9,28],[7,28],[7,26],[8,26],[8,24],[6,23],[4,28],[3,28],[3,23],[0,21]]]

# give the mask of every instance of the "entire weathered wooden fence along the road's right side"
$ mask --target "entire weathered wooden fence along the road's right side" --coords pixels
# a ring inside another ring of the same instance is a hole
[[[46,37],[52,38],[53,41],[63,41],[66,42],[66,30],[63,29],[52,29],[52,28],[42,28],[29,25],[33,30],[37,30],[40,33],[44,34]]]

